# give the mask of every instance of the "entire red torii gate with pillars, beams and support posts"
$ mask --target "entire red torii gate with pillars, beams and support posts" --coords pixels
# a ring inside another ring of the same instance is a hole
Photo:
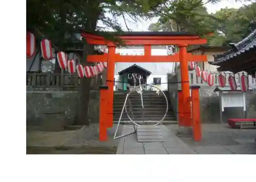
[[[113,32],[114,34],[114,32]],[[207,61],[206,55],[192,55],[187,53],[187,46],[190,44],[205,44],[206,39],[201,39],[198,35],[181,32],[124,32],[117,35],[126,45],[144,45],[144,55],[119,55],[115,54],[116,45],[101,36],[81,33],[86,37],[87,43],[94,45],[107,45],[108,53],[103,55],[89,55],[89,62],[108,62],[106,87],[100,91],[100,112],[99,112],[99,140],[107,140],[106,129],[113,126],[113,101],[114,101],[114,70],[115,62],[180,62],[181,69],[181,93],[179,94],[179,125],[194,126],[195,140],[201,139],[200,110],[192,108],[191,104],[199,107],[198,88],[191,89],[188,78],[188,61],[201,62]],[[179,52],[175,55],[153,56],[151,55],[151,45],[178,45]],[[104,89],[105,88],[105,89]],[[196,90],[195,92],[193,90]],[[194,98],[194,99],[193,99]],[[193,124],[194,123],[194,124]],[[195,127],[197,128],[195,129]]]

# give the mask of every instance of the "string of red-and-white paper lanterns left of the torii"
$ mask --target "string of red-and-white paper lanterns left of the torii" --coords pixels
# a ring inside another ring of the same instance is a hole
[[[36,54],[36,39],[34,34],[27,32],[26,37],[27,43],[27,57],[33,57]],[[48,39],[42,39],[40,43],[42,57],[46,60],[50,60],[53,57],[52,44]],[[106,53],[107,49],[101,49],[102,52]],[[86,65],[83,66],[81,63],[76,65],[74,59],[68,59],[68,54],[59,51],[57,53],[57,60],[59,66],[62,70],[67,70],[70,74],[75,74],[77,72],[79,78],[83,77],[93,77],[101,73],[106,67],[106,62],[99,62],[96,65]]]

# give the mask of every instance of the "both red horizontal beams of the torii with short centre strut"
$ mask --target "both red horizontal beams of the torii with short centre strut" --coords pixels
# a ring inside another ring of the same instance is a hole
[[[114,62],[179,62],[179,53],[167,56],[153,56],[151,55],[151,45],[189,45],[189,44],[204,44],[206,39],[201,39],[198,35],[182,32],[124,32],[117,35],[126,45],[144,45],[143,56],[132,55],[113,55]],[[89,44],[114,46],[115,44],[109,40],[98,35],[89,33],[81,33]],[[207,61],[205,55],[192,55],[187,53],[187,58],[190,61]],[[104,55],[90,55],[89,62],[106,62],[108,60],[108,53]]]

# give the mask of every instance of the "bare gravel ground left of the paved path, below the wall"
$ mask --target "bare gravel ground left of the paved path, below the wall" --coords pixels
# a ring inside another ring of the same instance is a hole
[[[113,136],[117,125],[108,130],[109,138],[106,142],[98,140],[98,126],[98,124],[91,124],[77,130],[59,132],[27,129],[27,154],[116,153],[119,140],[113,140]]]

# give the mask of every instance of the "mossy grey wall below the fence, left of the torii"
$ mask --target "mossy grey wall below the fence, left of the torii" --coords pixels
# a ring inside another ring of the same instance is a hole
[[[61,119],[64,120],[65,125],[72,125],[78,99],[77,91],[27,91],[27,125],[41,125],[42,122],[57,119],[58,115],[53,114],[54,112],[63,113]],[[92,123],[98,123],[99,92],[97,90],[92,90],[90,93],[88,109],[88,119]],[[44,114],[45,112],[48,114]]]

